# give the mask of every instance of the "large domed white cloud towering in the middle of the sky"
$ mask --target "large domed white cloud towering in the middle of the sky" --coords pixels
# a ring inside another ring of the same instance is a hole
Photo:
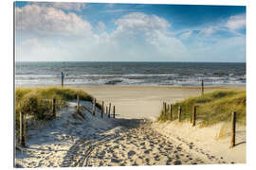
[[[188,56],[185,46],[178,39],[170,36],[169,24],[156,15],[142,12],[128,13],[119,18],[117,29],[111,34],[112,42],[117,42],[123,51],[148,56],[154,60],[172,60]]]

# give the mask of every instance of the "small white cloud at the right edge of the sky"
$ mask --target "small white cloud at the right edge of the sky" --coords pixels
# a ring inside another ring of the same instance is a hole
[[[237,30],[246,26],[246,14],[234,15],[229,18],[227,27]]]

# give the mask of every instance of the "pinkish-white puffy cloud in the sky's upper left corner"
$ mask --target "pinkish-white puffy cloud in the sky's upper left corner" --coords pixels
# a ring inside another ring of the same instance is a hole
[[[39,35],[80,35],[92,33],[92,26],[75,13],[58,8],[27,5],[15,8],[16,29]]]

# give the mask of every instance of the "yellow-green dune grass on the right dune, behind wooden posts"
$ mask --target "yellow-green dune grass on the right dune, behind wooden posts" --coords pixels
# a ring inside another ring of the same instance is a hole
[[[193,106],[197,107],[197,120],[201,121],[201,127],[208,127],[219,122],[229,122],[231,112],[237,112],[237,123],[246,125],[246,92],[215,91],[202,96],[188,98],[173,105],[173,117],[177,119],[178,107],[182,108],[181,121],[192,118]],[[170,120],[170,111],[164,112],[158,117],[158,121]]]

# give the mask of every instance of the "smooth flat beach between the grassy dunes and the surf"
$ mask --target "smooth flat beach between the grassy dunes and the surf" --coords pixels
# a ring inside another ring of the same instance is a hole
[[[174,103],[201,94],[201,87],[170,86],[78,86],[100,101],[116,106],[120,118],[147,118],[159,116],[162,103]],[[215,90],[243,91],[245,86],[206,87],[205,93]]]

